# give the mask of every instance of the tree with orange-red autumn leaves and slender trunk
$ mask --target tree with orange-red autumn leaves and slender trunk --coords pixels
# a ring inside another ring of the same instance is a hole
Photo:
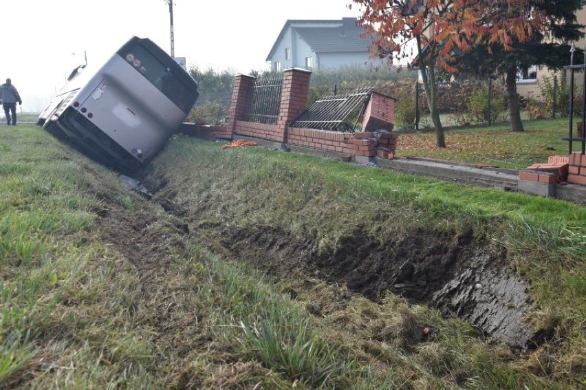
[[[373,56],[417,67],[437,135],[446,147],[437,110],[437,69],[455,73],[455,54],[484,43],[512,49],[513,39],[531,39],[541,26],[532,8],[540,0],[353,0],[360,23],[373,35]]]

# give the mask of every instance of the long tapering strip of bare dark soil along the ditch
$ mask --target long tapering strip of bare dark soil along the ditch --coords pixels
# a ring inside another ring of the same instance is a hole
[[[380,243],[358,230],[323,250],[311,237],[298,239],[282,227],[215,229],[207,239],[216,249],[276,277],[317,274],[373,301],[393,292],[462,318],[511,347],[534,345],[535,332],[524,319],[531,307],[527,283],[507,270],[504,254],[491,252],[470,235],[442,237],[419,230]]]

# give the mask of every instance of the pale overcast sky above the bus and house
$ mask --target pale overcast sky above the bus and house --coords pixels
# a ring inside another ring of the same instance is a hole
[[[265,70],[287,19],[358,17],[351,0],[174,0],[175,56],[188,67]],[[23,112],[39,112],[82,64],[100,64],[131,36],[171,52],[165,0],[3,0],[0,82],[12,79]],[[1,111],[1,110],[0,110]],[[3,116],[3,112],[0,113]]]

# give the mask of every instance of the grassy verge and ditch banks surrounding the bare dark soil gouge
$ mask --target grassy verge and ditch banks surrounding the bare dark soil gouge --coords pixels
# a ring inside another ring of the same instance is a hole
[[[586,208],[220,146],[170,140],[143,173],[148,202],[39,127],[3,129],[0,388],[585,384]],[[358,231],[506,252],[542,339],[511,349],[433,307],[295,265],[343,252]]]

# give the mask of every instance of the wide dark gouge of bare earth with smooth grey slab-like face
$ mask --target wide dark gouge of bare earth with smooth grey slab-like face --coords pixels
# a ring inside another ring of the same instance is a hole
[[[523,324],[530,307],[525,282],[506,270],[503,254],[470,235],[417,230],[378,244],[356,232],[318,266],[372,299],[391,291],[459,316],[515,347],[526,347],[533,336]]]

